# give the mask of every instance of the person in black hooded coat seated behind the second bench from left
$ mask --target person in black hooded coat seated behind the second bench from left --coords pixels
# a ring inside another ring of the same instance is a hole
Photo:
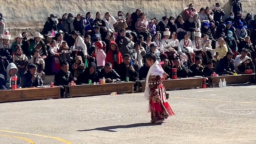
[[[89,84],[89,80],[91,80],[91,83],[99,82],[98,73],[96,71],[96,64],[92,62],[89,65],[89,69],[82,72],[78,78],[76,83],[77,84]]]

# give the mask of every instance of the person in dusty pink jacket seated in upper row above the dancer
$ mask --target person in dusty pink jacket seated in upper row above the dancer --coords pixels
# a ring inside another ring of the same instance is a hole
[[[144,12],[140,13],[140,18],[138,18],[136,24],[136,31],[138,34],[143,35],[144,39],[146,39],[146,37],[150,34],[149,23]]]

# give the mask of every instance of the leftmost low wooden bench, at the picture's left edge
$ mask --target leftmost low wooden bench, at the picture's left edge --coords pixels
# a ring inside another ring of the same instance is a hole
[[[0,91],[0,102],[40,100],[43,98],[60,98],[60,86]]]

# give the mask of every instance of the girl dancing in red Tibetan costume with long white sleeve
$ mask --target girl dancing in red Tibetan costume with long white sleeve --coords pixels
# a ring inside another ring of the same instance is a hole
[[[161,82],[167,77],[167,74],[161,68],[153,53],[146,54],[145,58],[150,65],[150,69],[146,77],[144,97],[149,100],[151,122],[161,123],[169,116],[175,115],[167,102],[168,96]]]

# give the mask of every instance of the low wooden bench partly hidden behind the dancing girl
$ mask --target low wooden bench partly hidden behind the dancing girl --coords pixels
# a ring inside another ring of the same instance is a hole
[[[141,88],[138,92],[144,92],[146,81],[136,81],[138,86],[141,84]],[[191,89],[195,87],[202,87],[203,78],[182,78],[176,80],[164,80],[165,90],[174,90],[174,89]]]

